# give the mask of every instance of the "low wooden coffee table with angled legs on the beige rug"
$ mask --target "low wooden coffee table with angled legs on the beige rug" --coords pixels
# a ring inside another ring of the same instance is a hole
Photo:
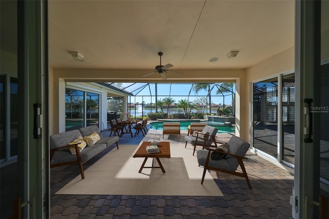
[[[138,173],[140,173],[142,171],[143,168],[161,168],[163,173],[166,173],[165,169],[163,169],[162,163],[160,162],[160,157],[166,157],[166,158],[170,158],[170,143],[168,141],[160,141],[158,144],[158,147],[160,149],[159,153],[148,153],[146,151],[146,147],[152,145],[151,141],[144,141],[139,149],[136,151],[136,153],[134,154],[134,158],[135,157],[144,157],[144,161],[142,163],[142,166],[140,167]],[[148,158],[151,157],[154,158],[158,161],[159,166],[160,167],[154,167],[153,166],[153,162],[152,162],[152,167],[144,167],[146,161],[148,160]]]

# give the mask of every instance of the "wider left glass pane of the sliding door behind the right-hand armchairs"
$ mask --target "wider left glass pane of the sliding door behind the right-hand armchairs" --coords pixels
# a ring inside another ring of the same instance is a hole
[[[253,84],[253,148],[278,156],[278,78]]]

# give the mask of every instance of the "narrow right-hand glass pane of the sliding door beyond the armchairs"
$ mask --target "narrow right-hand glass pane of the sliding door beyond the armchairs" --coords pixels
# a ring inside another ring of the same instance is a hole
[[[282,159],[295,164],[295,74],[282,77]]]

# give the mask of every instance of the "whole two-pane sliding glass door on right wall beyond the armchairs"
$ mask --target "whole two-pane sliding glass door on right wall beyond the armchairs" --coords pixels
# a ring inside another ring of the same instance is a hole
[[[295,164],[295,74],[253,83],[252,147]]]

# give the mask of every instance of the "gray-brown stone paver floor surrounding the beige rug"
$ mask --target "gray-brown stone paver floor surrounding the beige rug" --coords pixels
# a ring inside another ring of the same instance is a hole
[[[165,140],[185,143],[185,135],[187,131],[182,131],[180,139],[165,135]],[[231,135],[218,136],[221,141],[227,141]],[[153,139],[161,140],[162,132],[150,130],[143,140]],[[192,149],[189,146],[187,150]],[[113,148],[114,145],[88,161],[84,169]],[[210,172],[224,194],[222,197],[54,195],[79,175],[79,171],[75,166],[53,168],[50,173],[51,218],[292,218],[289,198],[294,186],[293,174],[249,152],[246,157],[244,163],[252,190],[248,189],[244,178]]]

